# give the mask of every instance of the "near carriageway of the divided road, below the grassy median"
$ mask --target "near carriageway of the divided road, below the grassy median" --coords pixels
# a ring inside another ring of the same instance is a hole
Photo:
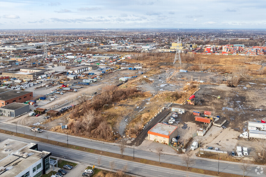
[[[175,170],[175,169],[168,169],[163,168],[159,166],[153,166],[153,165],[147,165],[144,163],[137,163],[137,162],[131,162],[127,160],[121,160],[113,157],[107,157],[107,156],[101,156],[97,154],[92,154],[88,152],[73,150],[65,147],[59,147],[51,144],[46,144],[38,141],[32,141],[25,138],[20,137],[14,137],[11,135],[6,135],[0,133],[0,140],[6,140],[6,139],[14,139],[17,141],[23,141],[23,142],[33,142],[38,144],[38,150],[39,151],[48,151],[51,152],[53,156],[61,157],[65,159],[75,160],[81,163],[87,163],[87,164],[95,164],[96,167],[99,166],[98,159],[100,158],[100,168],[108,168],[110,169],[110,162],[115,162],[114,170],[123,169],[125,165],[127,165],[127,172],[133,175],[139,175],[139,176],[147,176],[147,177],[154,177],[154,176],[190,176],[190,177],[207,177],[209,175],[201,175],[197,173],[192,172],[184,172],[181,170]]]

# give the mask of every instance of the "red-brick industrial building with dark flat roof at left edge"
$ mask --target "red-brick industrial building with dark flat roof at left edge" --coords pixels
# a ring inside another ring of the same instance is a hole
[[[22,90],[11,90],[6,88],[0,88],[0,106],[3,107],[11,103],[24,103],[29,101],[33,97],[33,92],[27,92]]]

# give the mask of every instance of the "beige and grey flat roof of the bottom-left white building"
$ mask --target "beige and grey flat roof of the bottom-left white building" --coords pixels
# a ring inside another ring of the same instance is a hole
[[[9,143],[5,146],[6,143]],[[0,151],[0,166],[5,167],[6,171],[0,172],[0,176],[14,177],[19,175],[25,169],[32,166],[34,163],[49,154],[46,151],[36,151],[30,149],[35,146],[35,143],[24,143],[12,139],[7,139],[0,143],[1,149],[7,151]],[[22,153],[28,153],[28,156],[22,156]]]

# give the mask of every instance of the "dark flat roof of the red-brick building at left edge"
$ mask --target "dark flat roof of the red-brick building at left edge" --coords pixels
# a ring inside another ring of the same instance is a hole
[[[6,101],[6,100],[10,100],[12,98],[23,96],[23,95],[28,94],[28,93],[32,93],[32,92],[0,88],[0,100]]]

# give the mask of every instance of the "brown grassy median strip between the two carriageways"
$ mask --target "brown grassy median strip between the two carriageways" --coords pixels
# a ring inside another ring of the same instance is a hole
[[[71,149],[75,149],[75,150],[79,150],[79,151],[84,151],[84,152],[89,152],[89,153],[93,153],[93,154],[99,154],[99,155],[103,155],[103,156],[119,158],[119,159],[138,162],[138,163],[145,163],[148,165],[154,165],[154,166],[160,166],[160,167],[165,167],[165,168],[170,168],[170,169],[177,169],[177,170],[182,170],[182,171],[195,172],[195,173],[199,173],[199,174],[206,174],[206,175],[213,175],[213,176],[220,176],[220,177],[242,177],[242,175],[236,175],[236,174],[230,174],[230,173],[224,173],[224,172],[220,172],[219,175],[217,175],[217,172],[211,171],[211,170],[197,169],[197,168],[192,168],[192,167],[189,167],[187,169],[186,166],[175,165],[175,164],[170,164],[170,163],[163,163],[163,162],[161,162],[159,164],[159,162],[157,162],[157,161],[146,160],[146,159],[137,158],[137,157],[135,157],[135,159],[133,159],[133,157],[125,156],[125,155],[123,157],[121,157],[120,155],[118,155],[116,153],[100,151],[97,149],[90,149],[90,148],[80,147],[80,146],[75,146],[75,145],[70,145],[70,144],[67,146],[66,143],[56,142],[56,141],[52,141],[52,140],[47,140],[45,138],[38,138],[38,137],[30,136],[30,135],[24,135],[21,133],[18,133],[16,135],[15,132],[10,132],[10,131],[6,131],[6,130],[2,130],[2,129],[0,130],[0,133],[5,133],[8,135],[13,135],[13,136],[21,137],[21,138],[32,139],[32,140],[40,141],[43,143],[53,144],[53,145],[57,145],[57,146],[61,146],[61,147],[67,147],[67,148],[71,148]]]

